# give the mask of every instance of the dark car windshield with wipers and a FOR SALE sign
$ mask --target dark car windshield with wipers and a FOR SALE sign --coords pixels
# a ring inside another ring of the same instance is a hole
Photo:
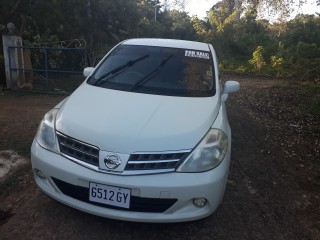
[[[209,97],[215,94],[213,60],[208,51],[120,45],[88,83],[147,94]]]

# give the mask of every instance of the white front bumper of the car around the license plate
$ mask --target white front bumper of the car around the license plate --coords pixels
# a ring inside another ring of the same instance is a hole
[[[90,214],[126,221],[182,222],[207,217],[219,206],[227,182],[230,154],[226,155],[217,168],[208,172],[123,176],[90,170],[41,148],[34,141],[31,148],[31,161],[33,171],[40,170],[44,175],[40,178],[34,174],[35,181],[42,191],[70,207]],[[132,198],[135,199],[133,201],[142,200],[140,205],[142,202],[142,204],[157,207],[157,201],[159,204],[171,202],[172,205],[169,204],[168,208],[162,210],[152,210],[153,208],[145,206],[151,209],[151,212],[143,210],[144,208],[123,210],[110,208],[107,205],[98,206],[87,199],[89,182],[129,188]],[[194,198],[206,198],[206,206],[196,207],[193,204]]]

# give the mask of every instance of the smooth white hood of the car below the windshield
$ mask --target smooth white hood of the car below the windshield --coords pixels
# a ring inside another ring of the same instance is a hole
[[[213,124],[220,98],[131,93],[82,84],[61,106],[57,131],[103,151],[194,148]]]

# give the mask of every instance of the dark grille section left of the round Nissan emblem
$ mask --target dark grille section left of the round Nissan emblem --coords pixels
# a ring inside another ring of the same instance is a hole
[[[99,148],[57,132],[60,152],[67,158],[99,166]]]

